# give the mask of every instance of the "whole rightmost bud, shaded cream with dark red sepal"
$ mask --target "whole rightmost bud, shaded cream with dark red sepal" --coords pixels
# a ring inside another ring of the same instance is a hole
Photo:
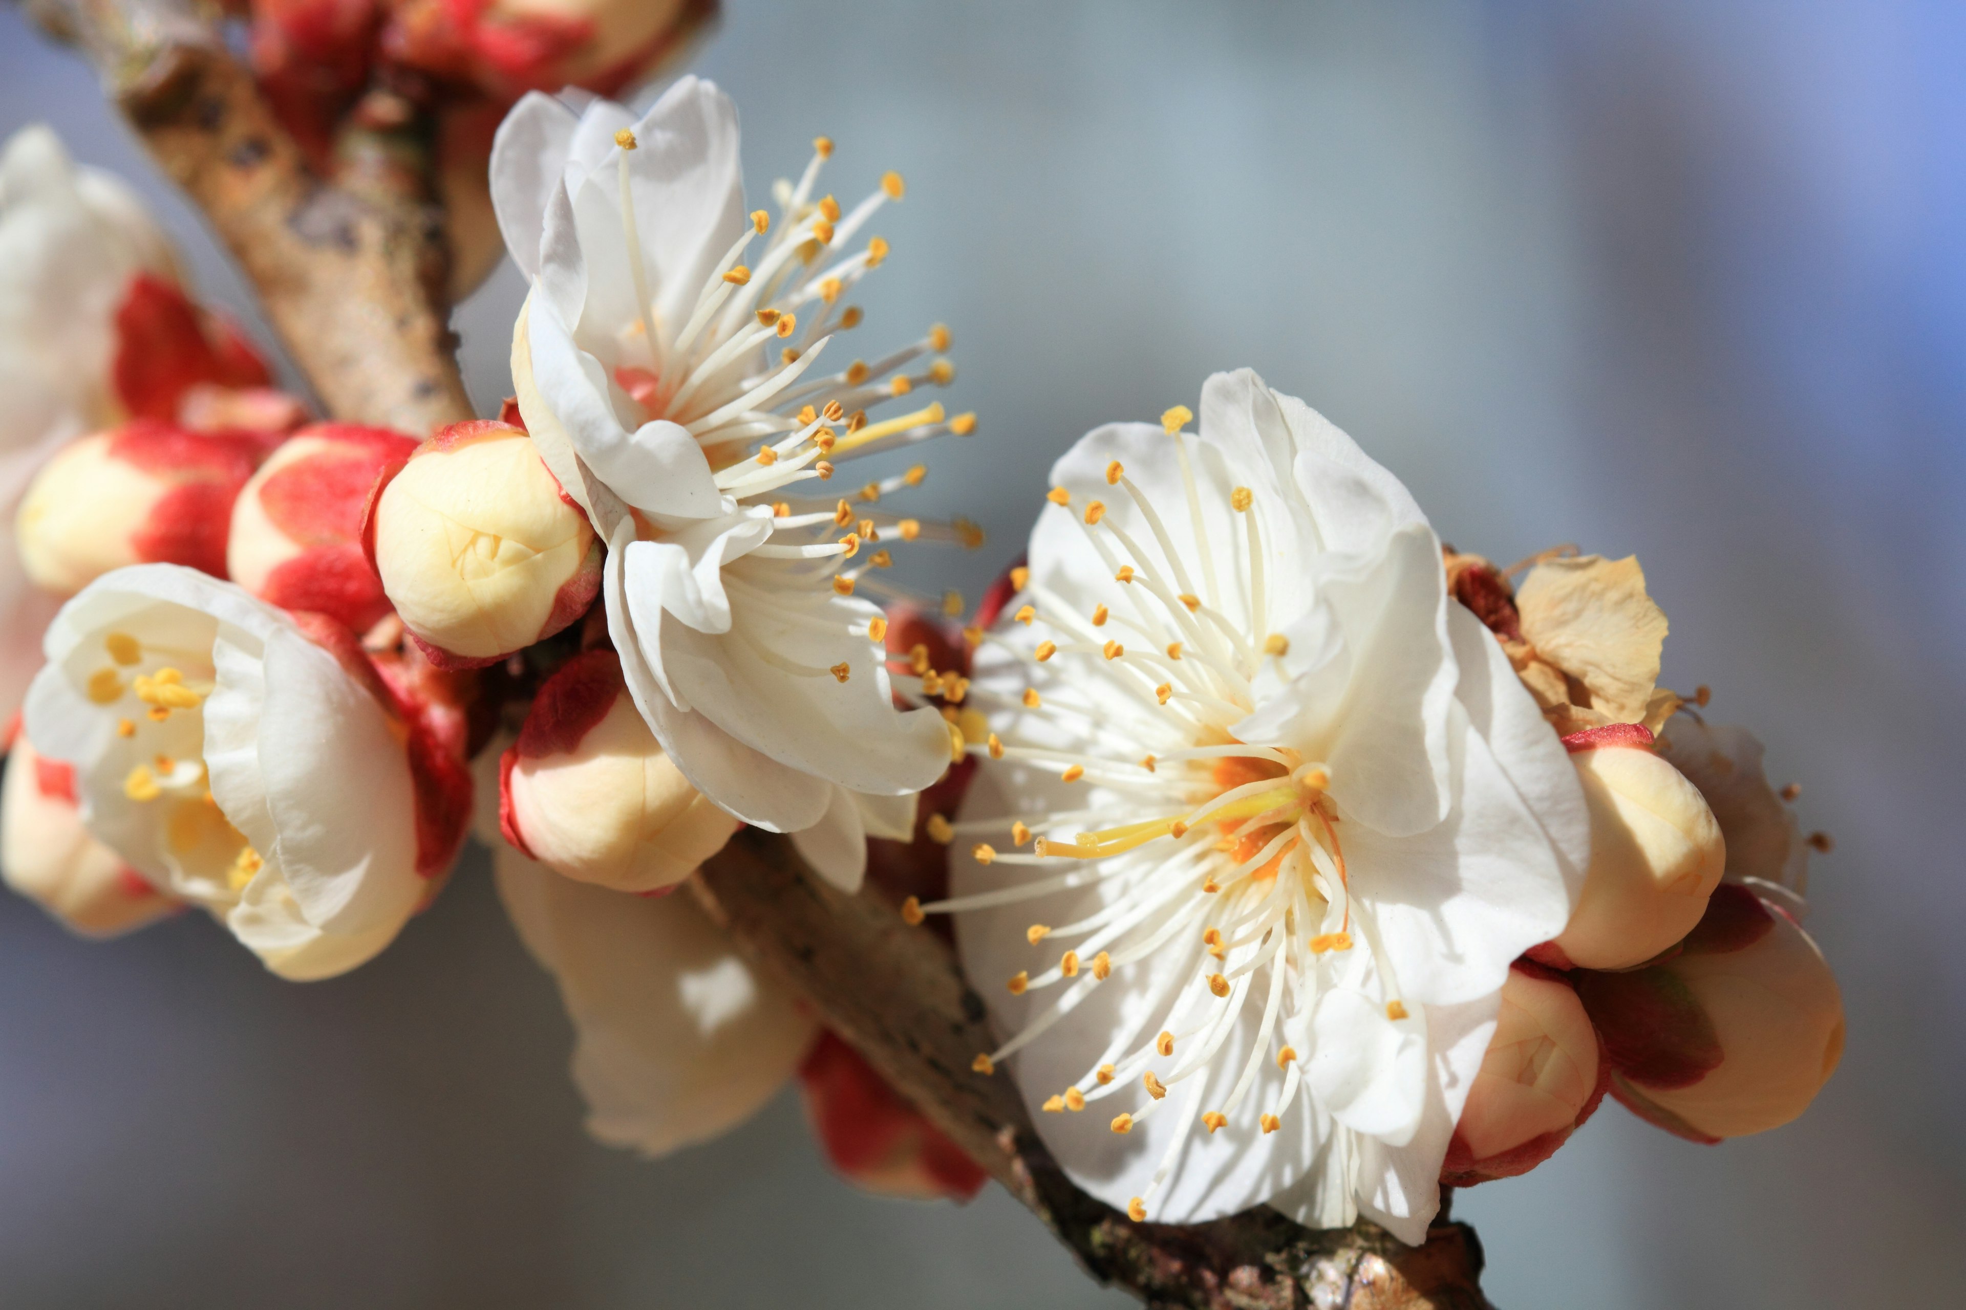
[[[1797,923],[1742,886],[1714,892],[1681,951],[1626,974],[1579,974],[1610,1092],[1693,1141],[1779,1127],[1842,1057],[1836,978]]]

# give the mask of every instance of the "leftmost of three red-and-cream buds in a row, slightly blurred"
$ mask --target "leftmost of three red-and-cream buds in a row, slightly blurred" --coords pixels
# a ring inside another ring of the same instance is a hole
[[[261,444],[138,420],[71,442],[49,460],[14,517],[22,568],[73,595],[126,564],[183,564],[226,575],[232,501]]]

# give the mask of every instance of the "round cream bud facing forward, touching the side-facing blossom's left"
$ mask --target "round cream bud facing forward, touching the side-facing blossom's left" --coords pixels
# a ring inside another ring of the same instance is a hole
[[[444,428],[376,497],[366,536],[403,625],[460,662],[552,636],[600,589],[602,546],[531,438],[503,422]]]

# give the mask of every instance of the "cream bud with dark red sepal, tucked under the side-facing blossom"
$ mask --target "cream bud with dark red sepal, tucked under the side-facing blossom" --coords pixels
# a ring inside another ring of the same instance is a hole
[[[611,650],[574,656],[539,689],[499,791],[513,846],[617,892],[672,888],[737,831],[655,740]]]

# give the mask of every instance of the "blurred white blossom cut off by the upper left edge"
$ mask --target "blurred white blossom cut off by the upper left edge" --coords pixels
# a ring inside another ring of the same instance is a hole
[[[171,247],[120,181],[77,167],[45,126],[0,147],[0,517],[63,442],[118,418],[116,308],[138,273],[175,277]],[[0,719],[41,664],[59,601],[35,593],[0,534]]]

